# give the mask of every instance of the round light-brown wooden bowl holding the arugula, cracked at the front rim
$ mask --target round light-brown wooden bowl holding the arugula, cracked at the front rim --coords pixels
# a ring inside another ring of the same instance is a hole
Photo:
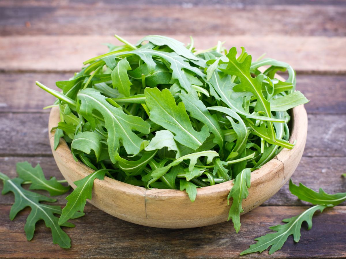
[[[256,208],[273,196],[291,177],[301,159],[307,137],[308,119],[303,105],[293,108],[290,142],[292,150],[283,149],[274,159],[251,173],[249,195],[243,201],[244,213]],[[49,139],[57,166],[64,178],[75,188],[74,181],[93,172],[81,162],[73,160],[71,150],[60,138],[53,150],[52,127],[60,121],[59,109],[54,107],[49,116]],[[197,189],[191,202],[180,190],[145,189],[104,177],[96,179],[89,202],[104,212],[136,224],[158,228],[194,228],[226,221],[229,205],[227,195],[233,181]]]

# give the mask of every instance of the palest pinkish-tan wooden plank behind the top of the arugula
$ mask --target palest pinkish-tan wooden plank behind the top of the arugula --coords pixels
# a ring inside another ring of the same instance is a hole
[[[89,19],[89,18],[88,18]],[[109,26],[108,26],[109,27]],[[69,27],[70,28],[70,27]],[[345,26],[346,28],[346,26]],[[143,32],[142,32],[143,33]],[[167,35],[166,32],[157,32]],[[213,36],[194,37],[198,49],[226,41],[227,48],[245,46],[254,59],[267,57],[285,61],[299,72],[346,73],[346,37],[298,36]],[[137,42],[140,36],[124,36]],[[183,42],[188,36],[172,35]],[[107,51],[104,42],[118,44],[111,36],[12,36],[0,37],[2,71],[77,71],[82,62]]]

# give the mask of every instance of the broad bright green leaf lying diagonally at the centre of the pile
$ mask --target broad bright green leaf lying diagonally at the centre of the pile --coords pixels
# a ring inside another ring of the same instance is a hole
[[[197,149],[210,135],[208,126],[204,125],[200,132],[194,130],[185,105],[176,105],[173,95],[168,89],[145,88],[146,105],[150,110],[149,118],[154,123],[175,134],[174,140],[182,145]]]

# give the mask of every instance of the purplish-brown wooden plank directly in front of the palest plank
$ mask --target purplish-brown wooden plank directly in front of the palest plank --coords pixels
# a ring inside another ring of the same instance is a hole
[[[49,112],[42,108],[55,98],[35,85],[40,81],[50,88],[55,81],[67,80],[73,73],[0,73],[0,112]],[[310,100],[308,113],[345,114],[346,76],[297,75],[297,89]],[[337,93],[337,94],[336,94]]]

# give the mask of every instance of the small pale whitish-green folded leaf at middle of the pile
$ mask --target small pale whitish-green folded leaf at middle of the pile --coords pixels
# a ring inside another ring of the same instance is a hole
[[[174,141],[174,135],[167,130],[156,131],[155,136],[149,142],[149,145],[145,147],[146,151],[161,149],[167,147],[168,150],[178,150],[178,147]]]

